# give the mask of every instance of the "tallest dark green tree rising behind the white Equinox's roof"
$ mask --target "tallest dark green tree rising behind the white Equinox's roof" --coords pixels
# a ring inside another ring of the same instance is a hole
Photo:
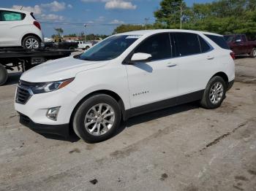
[[[181,28],[182,21],[189,16],[188,10],[184,0],[162,0],[154,16],[157,23],[162,23],[168,28]]]

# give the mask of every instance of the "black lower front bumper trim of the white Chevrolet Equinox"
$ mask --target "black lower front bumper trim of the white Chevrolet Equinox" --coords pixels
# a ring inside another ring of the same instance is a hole
[[[69,124],[63,125],[45,125],[33,122],[29,117],[24,114],[20,114],[20,123],[26,127],[34,130],[37,133],[48,133],[59,136],[68,137],[69,133]]]

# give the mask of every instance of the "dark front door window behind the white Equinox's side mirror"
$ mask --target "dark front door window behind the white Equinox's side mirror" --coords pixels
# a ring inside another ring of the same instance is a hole
[[[151,54],[152,61],[171,58],[169,34],[157,34],[149,37],[136,48],[136,52]]]

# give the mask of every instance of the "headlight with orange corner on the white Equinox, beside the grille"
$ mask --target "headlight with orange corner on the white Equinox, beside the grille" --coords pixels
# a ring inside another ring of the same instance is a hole
[[[58,81],[58,82],[35,83],[35,85],[33,85],[31,87],[31,90],[33,91],[34,94],[52,92],[55,90],[59,90],[62,87],[65,87],[70,82],[72,82],[74,79],[75,78],[69,78],[69,79],[64,79],[64,80]]]

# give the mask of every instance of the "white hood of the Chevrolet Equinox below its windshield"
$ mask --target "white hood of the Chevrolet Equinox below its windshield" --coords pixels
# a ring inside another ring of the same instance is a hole
[[[108,61],[83,61],[69,56],[42,63],[24,72],[20,79],[27,82],[54,82],[75,77],[80,71],[95,69]]]

